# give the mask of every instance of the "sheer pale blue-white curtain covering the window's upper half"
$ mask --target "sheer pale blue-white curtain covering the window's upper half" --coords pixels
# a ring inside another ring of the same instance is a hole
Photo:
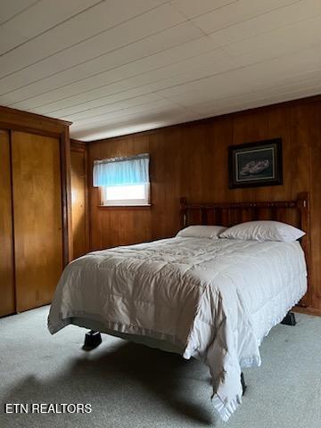
[[[149,154],[94,161],[93,185],[138,185],[149,183]]]

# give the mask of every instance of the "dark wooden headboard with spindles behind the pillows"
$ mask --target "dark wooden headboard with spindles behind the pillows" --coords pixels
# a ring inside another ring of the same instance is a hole
[[[294,201],[188,203],[186,198],[180,199],[181,228],[191,225],[230,227],[252,220],[276,220],[299,227],[306,232],[300,243],[310,274],[309,217],[308,192],[299,193]],[[301,305],[309,305],[309,295],[301,300]]]

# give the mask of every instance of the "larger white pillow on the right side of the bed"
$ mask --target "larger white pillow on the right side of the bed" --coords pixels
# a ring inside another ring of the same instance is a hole
[[[279,221],[262,220],[248,221],[229,227],[219,237],[241,239],[243,241],[281,241],[292,243],[292,241],[296,241],[303,235],[305,235],[305,232],[296,227]]]

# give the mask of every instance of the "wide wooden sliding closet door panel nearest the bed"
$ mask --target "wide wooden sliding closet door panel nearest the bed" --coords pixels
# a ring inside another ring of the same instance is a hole
[[[62,273],[60,155],[57,138],[12,132],[18,311],[49,303]]]

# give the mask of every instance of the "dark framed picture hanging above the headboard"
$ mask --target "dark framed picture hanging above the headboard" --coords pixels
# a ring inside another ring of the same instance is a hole
[[[229,188],[282,185],[282,140],[228,147]]]

